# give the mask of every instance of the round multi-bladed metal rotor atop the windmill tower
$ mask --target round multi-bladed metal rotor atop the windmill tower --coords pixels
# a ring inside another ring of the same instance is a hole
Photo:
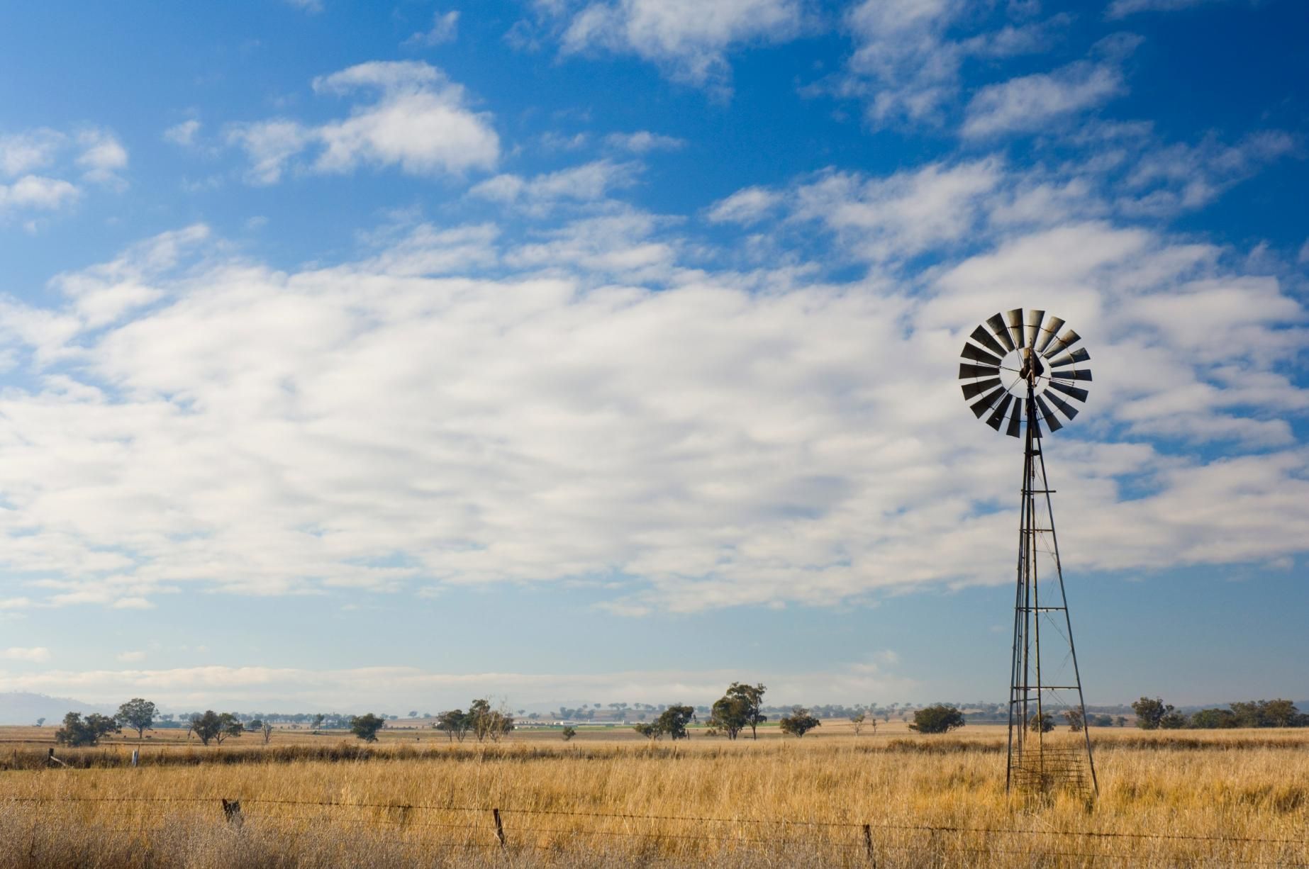
[[[1077,416],[1089,393],[1090,353],[1081,335],[1055,315],[1021,308],[988,317],[959,351],[959,387],[978,419],[1018,437],[1026,424],[1034,437],[1042,423],[1058,432]],[[1060,331],[1063,330],[1063,331]],[[1063,419],[1060,419],[1060,415]]]

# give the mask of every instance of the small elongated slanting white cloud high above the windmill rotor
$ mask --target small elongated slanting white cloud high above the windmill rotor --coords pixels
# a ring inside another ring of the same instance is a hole
[[[987,85],[969,102],[963,135],[1030,132],[1126,92],[1115,65],[1079,62],[1049,73]]]

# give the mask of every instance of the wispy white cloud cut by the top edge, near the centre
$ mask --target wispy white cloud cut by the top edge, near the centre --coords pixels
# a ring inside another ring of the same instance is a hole
[[[565,9],[563,4],[545,4]],[[568,10],[563,54],[598,47],[657,63],[672,77],[726,90],[726,51],[800,31],[797,0],[597,0]]]

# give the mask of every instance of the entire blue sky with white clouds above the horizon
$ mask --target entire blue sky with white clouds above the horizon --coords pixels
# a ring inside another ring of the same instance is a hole
[[[0,10],[0,690],[1000,699],[1016,442],[1090,703],[1309,696],[1292,0]],[[942,637],[945,637],[942,640]]]

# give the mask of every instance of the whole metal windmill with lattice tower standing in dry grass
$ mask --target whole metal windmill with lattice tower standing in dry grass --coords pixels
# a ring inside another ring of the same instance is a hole
[[[963,344],[959,381],[978,419],[1024,444],[1005,790],[1089,796],[1098,790],[1096,763],[1042,449],[1046,434],[1077,416],[1086,400],[1079,383],[1090,382],[1090,353],[1076,347],[1077,332],[1060,335],[1063,327],[1043,310],[991,317]],[[1047,733],[1060,712],[1081,722],[1080,738]]]

